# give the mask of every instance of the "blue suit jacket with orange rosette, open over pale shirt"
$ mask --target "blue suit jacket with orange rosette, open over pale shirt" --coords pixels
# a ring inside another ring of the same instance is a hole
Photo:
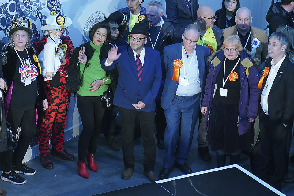
[[[166,79],[165,79],[164,88],[163,88],[162,97],[161,97],[161,107],[164,110],[168,108],[168,106],[171,104],[172,100],[175,97],[175,93],[177,92],[177,89],[178,89],[179,82],[171,80],[171,78],[174,72],[174,66],[173,66],[174,60],[182,58],[182,47],[183,47],[183,42],[166,46],[163,50]],[[201,87],[202,99],[203,99],[203,95],[205,92],[205,85],[206,85],[206,75],[208,74],[208,71],[209,71],[208,63],[206,61],[210,55],[210,49],[207,47],[196,45],[195,50],[196,50],[196,55],[198,60],[200,87]],[[180,71],[181,69],[179,69],[179,77],[180,77]]]

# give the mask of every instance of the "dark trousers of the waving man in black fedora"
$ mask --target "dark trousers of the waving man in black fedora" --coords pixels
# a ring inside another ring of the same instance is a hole
[[[123,161],[125,168],[133,168],[135,165],[134,157],[134,130],[136,116],[139,118],[141,134],[144,148],[144,171],[149,172],[154,170],[156,158],[155,146],[155,112],[145,112],[136,109],[126,109],[119,107],[119,114],[121,118],[123,134],[122,134],[122,148]]]

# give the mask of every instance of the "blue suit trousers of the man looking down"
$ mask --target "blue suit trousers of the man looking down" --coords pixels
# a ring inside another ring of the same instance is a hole
[[[164,168],[171,168],[175,161],[186,163],[199,116],[201,93],[193,96],[178,96],[165,109],[166,129],[164,132]],[[181,121],[181,131],[179,125]]]

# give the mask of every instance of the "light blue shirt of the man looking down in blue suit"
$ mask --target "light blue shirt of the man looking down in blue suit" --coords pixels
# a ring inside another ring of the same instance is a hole
[[[179,85],[176,95],[179,96],[193,96],[201,92],[200,86],[200,77],[199,77],[199,68],[198,68],[198,60],[197,54],[194,48],[194,51],[190,56],[187,57],[186,50],[184,45],[182,47],[182,62],[183,66],[180,69],[180,77],[179,77]],[[181,80],[188,80],[187,83],[183,83],[181,85]]]

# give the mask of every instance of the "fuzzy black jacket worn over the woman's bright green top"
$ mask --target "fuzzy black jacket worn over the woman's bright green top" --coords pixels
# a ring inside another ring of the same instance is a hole
[[[66,82],[66,88],[70,89],[72,93],[77,92],[80,89],[80,66],[79,66],[79,51],[81,47],[85,47],[85,55],[87,56],[87,61],[89,61],[94,54],[94,49],[90,45],[90,42],[81,44],[79,47],[76,47],[74,49],[73,54],[71,55],[70,58],[70,64],[68,65],[68,78]],[[109,44],[106,44],[101,47],[100,49],[100,55],[99,55],[99,60],[100,62],[104,59],[103,57],[106,55],[108,56],[108,51],[110,50],[111,46]],[[107,57],[106,56],[106,57]]]

